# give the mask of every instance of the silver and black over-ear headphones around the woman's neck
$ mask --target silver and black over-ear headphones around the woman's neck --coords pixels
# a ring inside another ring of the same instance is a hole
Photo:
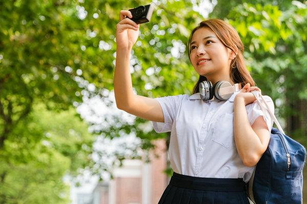
[[[213,96],[219,100],[227,100],[233,92],[241,88],[241,84],[231,85],[227,81],[219,81],[212,86],[210,81],[203,81],[199,85],[200,96],[203,100],[211,100]]]

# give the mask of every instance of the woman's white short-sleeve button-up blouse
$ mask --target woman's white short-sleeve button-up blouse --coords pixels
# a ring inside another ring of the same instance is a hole
[[[235,147],[233,101],[204,101],[199,93],[156,98],[163,110],[164,122],[153,122],[156,132],[171,132],[169,159],[174,172],[214,178],[243,178],[248,182],[254,167],[243,164]],[[264,96],[272,112],[274,104]],[[250,124],[263,116],[268,129],[273,126],[269,114],[254,102],[246,106]],[[268,118],[266,117],[268,115]]]

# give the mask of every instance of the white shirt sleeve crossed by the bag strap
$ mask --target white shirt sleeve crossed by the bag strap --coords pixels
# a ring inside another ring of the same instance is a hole
[[[274,103],[273,100],[270,96],[264,96],[264,99],[266,100],[270,111],[272,113],[274,113]],[[260,101],[262,99],[260,98]],[[264,104],[263,102],[261,102],[262,104]],[[273,127],[273,118],[271,117],[269,111],[267,111],[267,113],[262,112],[261,108],[258,105],[258,102],[255,101],[253,104],[247,105],[246,106],[246,111],[247,111],[247,115],[248,115],[248,119],[250,121],[250,124],[252,125],[255,120],[259,117],[259,116],[263,116],[267,125],[268,125],[268,129],[269,131],[272,130]]]

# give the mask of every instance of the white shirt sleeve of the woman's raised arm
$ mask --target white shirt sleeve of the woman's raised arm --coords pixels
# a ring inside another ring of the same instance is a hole
[[[155,129],[157,133],[166,133],[171,131],[174,117],[178,107],[181,104],[182,98],[183,95],[155,98],[160,103],[164,115],[164,122],[152,121],[153,129]]]

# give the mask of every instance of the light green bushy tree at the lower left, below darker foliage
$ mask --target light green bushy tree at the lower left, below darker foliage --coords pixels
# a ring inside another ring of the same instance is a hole
[[[0,203],[68,203],[63,176],[91,163],[93,141],[75,109],[35,105],[1,150]]]

